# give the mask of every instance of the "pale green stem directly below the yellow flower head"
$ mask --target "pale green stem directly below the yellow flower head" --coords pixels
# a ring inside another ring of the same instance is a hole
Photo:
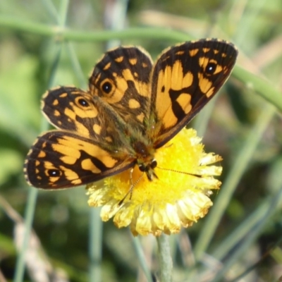
[[[172,259],[171,251],[168,242],[168,235],[160,235],[157,237],[157,243],[159,248],[159,266],[161,270],[161,282],[171,282],[172,281]]]

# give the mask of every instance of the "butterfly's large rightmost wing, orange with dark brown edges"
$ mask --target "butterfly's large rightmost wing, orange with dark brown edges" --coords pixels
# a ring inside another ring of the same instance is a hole
[[[209,102],[231,73],[233,44],[217,39],[185,42],[165,50],[152,75],[151,117],[161,147]],[[155,133],[154,133],[155,134]]]

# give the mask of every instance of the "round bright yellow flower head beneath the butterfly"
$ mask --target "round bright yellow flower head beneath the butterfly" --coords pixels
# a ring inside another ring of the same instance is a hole
[[[214,176],[221,175],[222,167],[211,166],[221,157],[205,153],[201,140],[195,130],[181,130],[157,149],[155,172],[159,179],[149,181],[135,166],[132,181],[128,170],[87,185],[88,204],[103,206],[103,221],[114,216],[116,226],[130,225],[133,235],[178,233],[181,226],[192,226],[207,214],[212,206],[209,195],[221,185]],[[135,181],[131,199],[129,194],[121,202]]]

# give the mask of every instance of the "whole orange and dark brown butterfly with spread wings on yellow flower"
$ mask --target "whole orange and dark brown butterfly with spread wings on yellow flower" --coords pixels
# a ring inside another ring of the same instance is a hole
[[[32,145],[25,160],[27,183],[70,188],[133,166],[154,180],[157,149],[214,97],[237,56],[233,44],[219,39],[178,44],[156,63],[139,47],[107,51],[88,90],[57,87],[44,94],[42,111],[58,130]]]

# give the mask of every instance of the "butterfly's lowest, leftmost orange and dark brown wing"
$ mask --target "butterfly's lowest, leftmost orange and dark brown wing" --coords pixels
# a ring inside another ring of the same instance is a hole
[[[39,136],[27,154],[25,178],[39,188],[78,186],[133,166],[127,156],[76,133],[52,130]]]

